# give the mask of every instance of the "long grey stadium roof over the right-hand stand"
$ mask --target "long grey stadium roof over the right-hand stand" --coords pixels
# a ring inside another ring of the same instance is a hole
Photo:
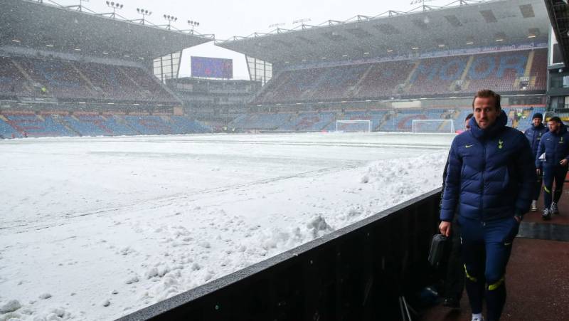
[[[298,63],[547,43],[548,28],[543,0],[458,0],[318,26],[277,28],[216,45],[270,63]]]

